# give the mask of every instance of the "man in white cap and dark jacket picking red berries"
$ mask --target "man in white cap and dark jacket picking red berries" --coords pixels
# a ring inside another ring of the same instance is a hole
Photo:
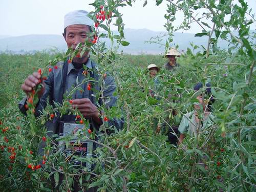
[[[94,22],[88,17],[87,11],[76,10],[65,15],[63,37],[67,42],[68,48],[72,48],[74,50],[80,42],[83,44],[88,37],[88,32],[92,32],[93,26]],[[72,90],[72,87],[77,86],[77,83],[80,84],[83,79],[86,78],[83,75],[83,65],[90,69],[90,77],[94,78],[96,81],[99,80],[99,75],[97,72],[95,72],[97,65],[91,61],[88,52],[84,53],[80,57],[75,57],[71,63],[68,62],[68,59],[66,62],[59,62],[57,64],[57,69],[53,68],[47,80],[44,80],[43,82],[44,87],[41,89],[38,95],[39,101],[36,104],[35,116],[39,116],[40,111],[46,107],[48,98],[50,102],[49,104],[53,105],[53,107],[54,102],[62,103],[63,94],[66,92],[69,93]],[[39,83],[40,79],[41,75],[37,72],[34,72],[25,79],[25,82],[22,84],[22,90],[27,96]],[[102,119],[100,118],[100,112],[96,103],[101,105],[104,100],[108,99],[109,102],[106,102],[106,107],[111,108],[116,104],[117,101],[117,97],[113,95],[116,89],[114,78],[108,75],[104,81],[105,86],[102,95],[103,99],[101,98],[96,100],[95,97],[93,97],[94,91],[87,89],[87,82],[81,85],[80,88],[83,89],[82,92],[77,90],[72,96],[73,108],[78,109],[84,118],[89,119],[91,127],[90,129],[94,130],[95,133],[98,133],[98,129],[102,124]],[[93,88],[98,91],[101,89],[97,83],[94,84]],[[26,114],[26,102],[27,97],[19,103],[19,109],[24,114]],[[74,124],[75,119],[75,115],[67,114],[60,117],[58,114],[57,117],[54,117],[54,119],[46,123],[47,131],[51,131],[52,134],[59,134],[60,136],[63,136],[63,133],[67,133],[67,131],[69,133],[72,132],[72,130],[66,130],[65,132],[65,129],[70,129],[70,127],[71,129],[74,128],[73,131],[77,129],[78,125]],[[108,120],[107,122],[109,123],[109,126],[115,126],[116,129],[121,129],[123,125],[122,119],[114,118],[113,120]],[[43,153],[42,147],[43,146],[41,146],[39,149],[40,154]],[[96,145],[95,143],[86,143],[86,147],[86,155],[92,155],[88,153],[92,153],[92,151],[95,150]],[[91,188],[89,191],[94,190]]]

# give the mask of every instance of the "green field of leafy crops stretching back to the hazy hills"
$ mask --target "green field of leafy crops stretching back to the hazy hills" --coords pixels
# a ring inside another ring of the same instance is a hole
[[[129,191],[253,191],[256,82],[249,57],[222,50],[205,58],[189,49],[177,60],[180,67],[175,71],[160,70],[157,87],[146,67],[150,63],[163,66],[162,56],[117,55],[114,63],[101,64],[100,73],[108,71],[115,77],[119,96],[117,106],[106,110],[106,116],[122,117],[125,123],[121,131],[102,136],[104,146],[98,148],[97,157],[73,157],[96,164],[95,177],[90,178],[89,170],[73,166],[56,151],[56,138],[48,137],[44,127],[49,115],[36,120],[32,134],[29,119],[17,107],[25,96],[20,89],[24,79],[55,56],[0,54],[2,191],[52,191],[58,184],[68,191],[74,181],[82,184],[84,180],[90,183],[83,187],[99,186],[100,191],[121,191],[124,181]],[[92,60],[97,62],[96,57]],[[179,126],[182,116],[193,111],[197,82],[211,84],[216,100],[211,109],[214,123],[199,137],[187,135],[179,147],[171,145],[170,127]],[[52,110],[48,108],[48,114]],[[43,137],[45,156],[37,153]],[[40,167],[33,170],[29,164]]]

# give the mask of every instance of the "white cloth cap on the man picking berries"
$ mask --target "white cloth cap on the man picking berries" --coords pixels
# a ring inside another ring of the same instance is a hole
[[[89,18],[88,12],[84,10],[75,10],[69,12],[64,17],[64,29],[70,25],[88,25],[94,27],[94,21]]]

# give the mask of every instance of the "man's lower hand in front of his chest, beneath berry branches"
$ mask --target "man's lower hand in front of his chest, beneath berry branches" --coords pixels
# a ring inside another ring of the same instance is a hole
[[[99,110],[97,106],[95,106],[90,99],[74,99],[72,101],[72,106],[74,109],[79,110],[83,117],[85,118],[93,118],[97,124],[101,125],[102,121],[99,118]]]

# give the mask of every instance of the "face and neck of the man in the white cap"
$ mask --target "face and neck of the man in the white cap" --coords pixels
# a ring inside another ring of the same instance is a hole
[[[84,44],[86,41],[87,33],[90,32],[90,28],[87,25],[71,25],[66,28],[66,36],[64,37],[68,48],[72,48],[75,50],[76,46],[79,42]],[[87,57],[88,52],[84,53],[82,57]],[[79,62],[82,58],[75,57],[73,59],[74,62]]]

